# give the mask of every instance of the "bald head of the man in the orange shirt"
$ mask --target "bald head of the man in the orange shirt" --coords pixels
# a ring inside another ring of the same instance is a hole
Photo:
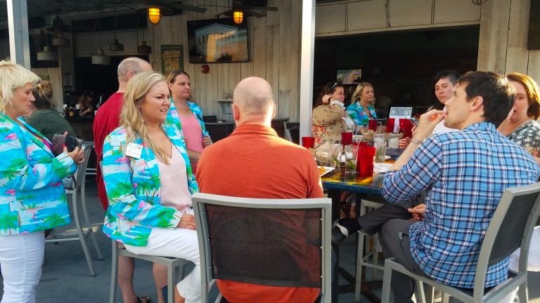
[[[238,107],[243,122],[261,118],[270,121],[276,109],[270,83],[259,77],[249,77],[238,83],[234,88],[233,105]]]

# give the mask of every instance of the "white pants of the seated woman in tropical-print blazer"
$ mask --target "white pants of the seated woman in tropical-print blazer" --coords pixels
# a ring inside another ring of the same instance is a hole
[[[176,284],[179,294],[186,303],[200,302],[200,262],[197,231],[190,229],[164,229],[154,227],[146,246],[125,245],[126,249],[137,255],[177,257],[191,261],[195,268],[184,280]]]

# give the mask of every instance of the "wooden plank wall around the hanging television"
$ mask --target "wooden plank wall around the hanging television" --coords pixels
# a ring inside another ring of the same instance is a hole
[[[184,69],[190,75],[195,101],[204,114],[218,114],[217,100],[232,93],[236,84],[245,77],[259,76],[274,89],[276,118],[298,120],[300,14],[302,1],[269,0],[268,6],[278,7],[278,13],[269,12],[264,18],[247,18],[250,61],[245,63],[214,63],[210,73],[201,72],[201,64],[188,60],[186,22],[215,18],[227,11],[231,0],[187,0],[184,4],[205,6],[205,13],[184,11],[182,15],[162,18],[158,25],[149,25],[148,43],[152,46],[150,63],[161,71],[161,45],[184,46]]]

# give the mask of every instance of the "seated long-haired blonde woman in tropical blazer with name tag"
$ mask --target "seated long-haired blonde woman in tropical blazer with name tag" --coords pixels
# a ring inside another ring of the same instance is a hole
[[[199,302],[199,251],[191,208],[191,194],[198,187],[184,137],[165,123],[170,105],[161,74],[141,72],[127,83],[120,128],[103,144],[109,201],[103,232],[131,253],[195,263],[177,285],[176,295],[188,303]]]

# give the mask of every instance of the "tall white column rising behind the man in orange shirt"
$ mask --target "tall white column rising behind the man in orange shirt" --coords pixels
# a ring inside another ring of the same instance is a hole
[[[300,137],[311,134],[313,61],[315,44],[315,0],[302,0],[300,45]]]

